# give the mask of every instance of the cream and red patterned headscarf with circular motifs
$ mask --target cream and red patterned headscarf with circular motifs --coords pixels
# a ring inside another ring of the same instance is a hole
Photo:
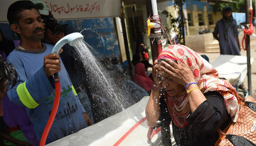
[[[218,77],[217,70],[199,54],[183,45],[168,46],[159,55],[158,59],[173,59],[181,61],[193,72],[195,81],[202,93],[217,91],[223,96],[226,110],[233,122],[236,122],[239,111],[239,95],[235,88],[226,80]],[[186,118],[190,111],[187,93],[184,95],[168,96],[165,93],[166,104],[176,126],[184,128],[188,125]]]

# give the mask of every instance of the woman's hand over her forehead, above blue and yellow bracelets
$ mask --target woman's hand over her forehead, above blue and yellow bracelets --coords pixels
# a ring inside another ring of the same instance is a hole
[[[192,71],[180,61],[176,63],[171,59],[166,59],[166,61],[162,61],[160,65],[159,74],[162,77],[171,78],[184,86],[190,82],[195,82]]]

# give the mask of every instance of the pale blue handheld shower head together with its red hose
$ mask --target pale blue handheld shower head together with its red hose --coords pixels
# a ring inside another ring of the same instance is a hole
[[[68,43],[70,46],[74,46],[74,42],[81,39],[83,40],[83,35],[80,34],[79,32],[74,32],[72,34],[66,35],[54,45],[52,49],[52,53],[59,54],[61,47],[63,47],[66,43]],[[45,145],[46,138],[49,134],[50,128],[52,127],[52,123],[55,119],[56,113],[58,111],[59,103],[60,103],[60,77],[58,73],[54,73],[54,81],[55,81],[55,97],[54,97],[53,108],[50,114],[50,118],[42,134],[40,146]]]

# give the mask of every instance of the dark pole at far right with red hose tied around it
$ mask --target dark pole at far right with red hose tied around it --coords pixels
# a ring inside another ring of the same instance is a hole
[[[252,14],[251,14],[252,15]],[[245,19],[246,24],[250,24],[249,0],[245,0]],[[249,28],[246,25],[247,29]],[[246,55],[247,55],[247,78],[248,78],[248,92],[252,96],[252,74],[251,74],[251,53],[250,53],[250,35],[246,35]]]

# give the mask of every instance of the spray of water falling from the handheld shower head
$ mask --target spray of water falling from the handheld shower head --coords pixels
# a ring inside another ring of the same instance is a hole
[[[82,62],[86,85],[92,93],[93,100],[96,101],[93,102],[92,108],[99,110],[96,113],[102,114],[97,117],[103,120],[123,111],[128,106],[126,104],[129,104],[129,97],[123,98],[124,93],[121,92],[121,85],[116,79],[118,75],[102,66],[94,57],[97,54],[95,50],[83,40],[74,42],[74,47],[78,59]]]

